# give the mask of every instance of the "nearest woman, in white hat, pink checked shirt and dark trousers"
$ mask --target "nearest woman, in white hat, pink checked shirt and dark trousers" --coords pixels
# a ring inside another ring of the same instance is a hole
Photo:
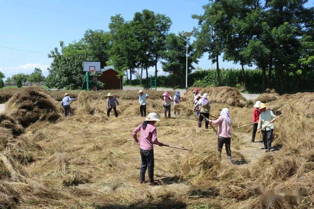
[[[140,154],[142,159],[141,172],[140,172],[140,184],[145,182],[145,173],[148,167],[149,182],[151,185],[158,184],[158,181],[154,181],[154,146],[157,144],[162,147],[164,144],[157,140],[157,131],[154,124],[160,121],[158,115],[154,112],[148,114],[145,121],[133,131],[133,138],[140,146]],[[137,133],[141,132],[139,140],[137,138]]]

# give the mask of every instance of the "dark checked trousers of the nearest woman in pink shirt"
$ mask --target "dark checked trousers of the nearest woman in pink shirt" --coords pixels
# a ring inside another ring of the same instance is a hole
[[[148,167],[148,177],[150,183],[154,183],[154,149],[140,149],[140,153],[142,159],[140,180],[145,180],[145,173]]]

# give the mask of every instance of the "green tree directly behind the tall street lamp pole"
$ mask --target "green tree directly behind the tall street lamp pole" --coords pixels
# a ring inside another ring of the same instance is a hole
[[[181,35],[182,33],[179,33]],[[166,50],[161,52],[164,61],[161,61],[162,69],[174,76],[174,84],[177,85],[177,77],[186,73],[186,50],[188,51],[188,73],[194,68],[193,63],[198,63],[195,57],[195,50],[190,44],[186,49],[186,42],[174,33],[166,38]],[[185,82],[185,81],[184,81]]]

